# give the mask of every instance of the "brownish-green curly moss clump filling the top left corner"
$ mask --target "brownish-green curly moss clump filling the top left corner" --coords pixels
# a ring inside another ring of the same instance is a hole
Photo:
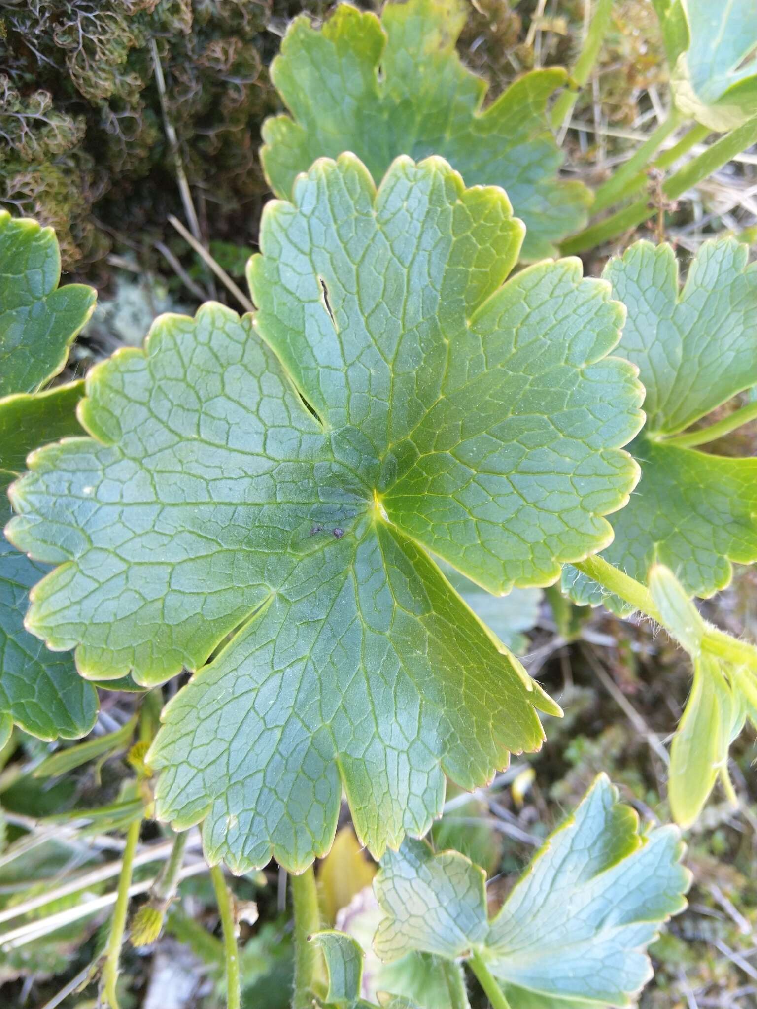
[[[0,206],[51,224],[68,267],[101,258],[113,235],[154,229],[181,206],[165,112],[201,216],[206,204],[216,234],[224,220],[238,229],[240,211],[265,190],[256,151],[276,102],[265,69],[278,41],[264,32],[272,2],[5,5]]]

